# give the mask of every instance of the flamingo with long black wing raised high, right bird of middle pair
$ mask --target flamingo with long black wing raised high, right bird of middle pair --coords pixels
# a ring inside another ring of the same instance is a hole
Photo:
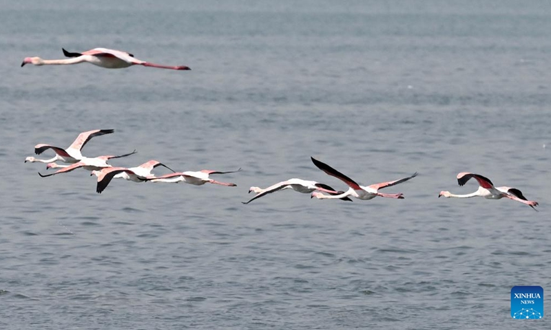
[[[314,165],[320,168],[320,170],[323,170],[325,173],[331,175],[332,177],[336,177],[337,179],[342,180],[345,184],[347,184],[350,187],[349,190],[347,190],[346,192],[343,192],[340,195],[333,195],[333,196],[324,195],[321,192],[314,191],[312,192],[311,198],[316,197],[317,199],[337,199],[337,198],[342,198],[346,196],[352,196],[352,197],[356,197],[357,199],[369,200],[377,196],[380,196],[380,197],[404,199],[404,196],[402,193],[383,194],[378,190],[382,188],[390,187],[390,186],[395,186],[396,184],[401,184],[402,182],[405,182],[405,181],[408,181],[409,179],[413,179],[414,177],[417,177],[417,172],[415,172],[413,173],[413,175],[409,177],[404,177],[404,179],[382,182],[380,184],[372,184],[371,186],[360,186],[353,179],[335,170],[335,168],[332,168],[331,166],[324,164],[320,162],[318,159],[314,159],[313,157],[311,157],[311,159]]]

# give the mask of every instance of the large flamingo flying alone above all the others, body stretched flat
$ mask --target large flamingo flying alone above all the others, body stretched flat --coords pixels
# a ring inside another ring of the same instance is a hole
[[[25,57],[23,63],[21,63],[21,67],[29,63],[33,65],[63,65],[88,62],[98,67],[105,67],[106,69],[121,69],[131,65],[143,65],[144,67],[158,67],[160,69],[191,70],[185,65],[171,66],[141,61],[134,58],[134,55],[127,52],[121,52],[120,50],[94,48],[93,50],[87,50],[82,53],[67,52],[63,48],[62,50],[63,54],[69,58],[63,60],[43,60],[39,57]]]

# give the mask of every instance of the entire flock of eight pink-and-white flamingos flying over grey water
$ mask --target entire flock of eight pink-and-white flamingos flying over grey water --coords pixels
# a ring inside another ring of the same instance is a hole
[[[110,50],[107,48],[94,48],[92,50],[87,50],[85,52],[67,52],[63,49],[63,55],[66,58],[56,59],[56,60],[44,60],[40,57],[26,57],[21,63],[21,67],[32,64],[32,65],[72,65],[79,63],[91,63],[98,67],[103,67],[106,69],[121,69],[125,67],[130,67],[132,65],[142,65],[144,67],[156,67],[160,69],[173,69],[173,70],[190,70],[189,67],[185,65],[160,65],[155,63],[150,63],[146,61],[138,60],[134,57],[133,54],[128,52],[123,52],[120,50]],[[136,150],[131,153],[125,153],[123,155],[101,155],[97,157],[85,157],[82,155],[82,149],[92,140],[93,137],[106,135],[114,133],[114,129],[95,129],[92,131],[85,131],[80,133],[76,140],[70,144],[67,148],[60,148],[52,144],[37,144],[34,146],[34,153],[41,155],[45,151],[52,150],[54,151],[54,156],[50,159],[38,159],[35,157],[26,157],[26,162],[41,162],[47,164],[46,169],[50,168],[59,168],[54,173],[42,174],[39,173],[40,177],[51,177],[53,175],[58,175],[62,173],[69,173],[76,168],[83,168],[84,170],[90,171],[90,175],[95,175],[97,177],[96,192],[103,192],[107,186],[110,184],[112,179],[122,178],[127,181],[133,182],[160,182],[160,183],[178,183],[185,182],[186,184],[191,184],[194,186],[202,186],[203,184],[216,184],[220,186],[235,187],[236,184],[217,181],[211,179],[211,175],[222,175],[229,173],[236,173],[241,170],[232,170],[232,171],[220,171],[220,170],[197,170],[197,171],[185,171],[185,172],[176,172],[172,170],[165,164],[158,162],[157,160],[149,160],[144,164],[141,164],[136,167],[126,168],[121,166],[112,166],[108,164],[107,161],[110,159],[118,159],[134,155]],[[311,157],[313,164],[322,170],[327,175],[335,177],[342,181],[348,188],[346,190],[336,190],[331,186],[326,184],[319,183],[318,181],[304,180],[298,178],[287,179],[280,181],[276,184],[272,184],[267,188],[259,188],[253,186],[249,188],[249,193],[254,192],[256,195],[253,196],[249,201],[243,201],[244,204],[249,204],[251,201],[264,197],[273,192],[278,192],[280,190],[294,190],[303,194],[311,194],[311,198],[316,199],[341,199],[343,201],[352,201],[350,197],[360,200],[370,200],[375,197],[386,197],[391,199],[404,199],[404,194],[401,192],[388,194],[380,192],[379,190],[383,188],[388,188],[395,186],[397,184],[402,184],[414,177],[417,177],[417,172],[413,173],[408,177],[402,179],[397,179],[393,181],[385,181],[379,184],[371,184],[369,186],[361,186],[350,177],[340,173],[335,168],[320,162],[318,159]],[[63,162],[67,165],[57,164],[56,162]],[[155,176],[152,174],[152,170],[158,166],[163,166],[171,171],[171,173]],[[533,208],[538,206],[537,201],[530,201],[524,197],[521,190],[517,188],[511,188],[508,186],[495,187],[492,184],[490,179],[478,175],[475,173],[462,172],[457,175],[457,181],[459,186],[464,186],[469,179],[474,178],[478,184],[479,188],[477,191],[472,192],[466,195],[455,195],[449,191],[441,191],[438,197],[454,197],[454,198],[470,198],[470,197],[484,197],[485,199],[502,199],[508,198],[513,201],[519,201],[520,203],[526,204]]]

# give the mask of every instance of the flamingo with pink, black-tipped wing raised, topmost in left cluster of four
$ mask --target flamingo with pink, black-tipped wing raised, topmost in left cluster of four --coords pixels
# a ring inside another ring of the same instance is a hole
[[[56,155],[50,159],[37,159],[34,157],[25,158],[26,162],[41,162],[41,163],[51,163],[60,160],[61,162],[74,164],[79,162],[83,158],[81,150],[85,144],[92,139],[92,137],[105,135],[113,133],[114,129],[94,129],[92,131],[87,131],[80,133],[79,136],[73,141],[73,143],[66,149],[59,148],[59,146],[52,146],[50,144],[37,144],[34,146],[34,153],[40,155],[48,149],[52,149]]]

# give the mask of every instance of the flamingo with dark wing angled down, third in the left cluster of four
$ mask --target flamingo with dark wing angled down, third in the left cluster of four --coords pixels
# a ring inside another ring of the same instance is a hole
[[[151,171],[157,166],[164,166],[174,172],[171,168],[162,164],[154,159],[145,162],[140,166],[125,168],[125,167],[110,167],[102,168],[101,170],[92,170],[90,175],[96,175],[98,177],[98,184],[96,186],[96,192],[101,194],[105,188],[109,185],[114,177],[122,177],[125,180],[134,182],[143,182],[146,179],[152,178]]]

